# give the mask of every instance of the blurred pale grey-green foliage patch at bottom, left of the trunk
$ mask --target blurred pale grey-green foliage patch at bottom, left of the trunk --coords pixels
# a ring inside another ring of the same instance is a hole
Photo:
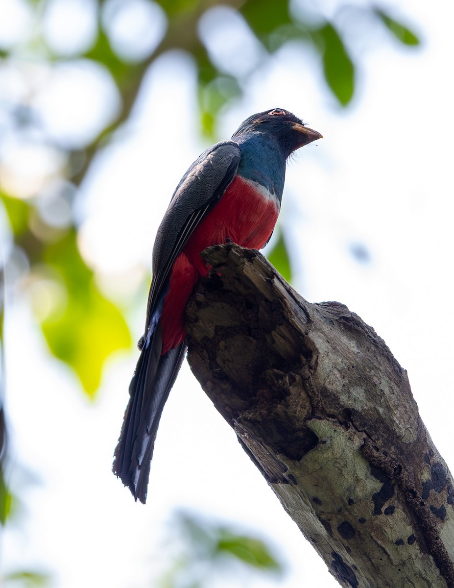
[[[226,570],[238,585],[248,572],[272,573],[278,580],[284,571],[261,539],[189,513],[175,515],[170,544],[173,559],[161,588],[209,588]]]

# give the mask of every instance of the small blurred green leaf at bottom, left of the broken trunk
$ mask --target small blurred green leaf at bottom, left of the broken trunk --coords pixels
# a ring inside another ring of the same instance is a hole
[[[255,537],[221,529],[217,548],[218,552],[228,553],[249,566],[262,570],[281,570],[281,564],[272,556],[265,543]]]

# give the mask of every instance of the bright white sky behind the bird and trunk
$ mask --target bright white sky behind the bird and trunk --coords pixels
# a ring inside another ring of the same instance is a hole
[[[392,40],[366,45],[347,111],[333,104],[313,57],[288,47],[251,76],[248,95],[223,119],[222,136],[275,106],[323,134],[288,168],[281,226],[292,239],[293,286],[311,302],[345,303],[385,339],[452,466],[454,9],[400,0],[399,14],[421,32],[422,48],[404,51]],[[151,265],[173,189],[205,148],[192,84],[188,59],[161,58],[134,123],[83,186],[81,245],[120,293],[126,279],[135,279],[131,267]],[[369,263],[350,254],[358,243]],[[131,318],[137,337],[145,297]],[[25,300],[8,309],[6,342],[9,419],[25,469],[16,474],[24,513],[2,540],[5,568],[47,569],[64,588],[151,586],[166,524],[184,507],[271,540],[291,568],[280,586],[338,586],[186,364],[159,427],[144,507],[111,473],[137,354],[112,358],[92,406],[68,370],[49,362]]]

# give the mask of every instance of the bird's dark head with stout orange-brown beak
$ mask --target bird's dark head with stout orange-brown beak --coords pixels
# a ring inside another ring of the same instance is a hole
[[[269,135],[278,141],[286,157],[303,145],[323,138],[319,132],[309,129],[301,119],[283,108],[273,108],[249,116],[233,133],[232,139],[249,133]]]

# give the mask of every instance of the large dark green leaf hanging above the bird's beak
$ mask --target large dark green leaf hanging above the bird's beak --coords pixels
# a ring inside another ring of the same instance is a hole
[[[355,66],[336,29],[327,22],[316,31],[323,39],[325,79],[342,106],[348,105],[355,90]]]

